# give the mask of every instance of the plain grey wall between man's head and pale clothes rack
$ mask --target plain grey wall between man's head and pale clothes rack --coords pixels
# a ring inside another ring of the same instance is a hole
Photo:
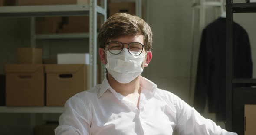
[[[153,59],[147,77],[159,88],[189,100],[191,1],[148,0]]]

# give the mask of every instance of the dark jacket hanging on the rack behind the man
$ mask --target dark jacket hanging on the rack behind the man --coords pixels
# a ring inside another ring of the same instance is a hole
[[[245,29],[233,22],[234,77],[251,78],[252,60],[249,37]],[[242,87],[236,85],[236,87]],[[218,18],[203,29],[194,108],[203,113],[208,97],[209,113],[217,121],[226,119],[226,18]]]

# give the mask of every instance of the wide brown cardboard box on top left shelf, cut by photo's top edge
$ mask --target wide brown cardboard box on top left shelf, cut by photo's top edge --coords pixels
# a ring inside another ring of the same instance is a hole
[[[18,5],[88,4],[89,0],[18,0]]]

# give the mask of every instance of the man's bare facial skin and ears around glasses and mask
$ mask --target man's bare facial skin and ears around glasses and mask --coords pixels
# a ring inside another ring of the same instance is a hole
[[[138,43],[141,43],[142,45],[144,45],[144,36],[143,35],[135,35],[135,36],[126,35],[126,36],[122,36],[122,37],[119,37],[119,38],[116,38],[116,39],[108,39],[107,42],[110,42],[110,41],[118,41],[118,42],[125,43],[124,48],[127,49],[128,44],[131,43],[131,42],[138,42]],[[105,51],[108,51],[108,46],[107,45],[105,46]],[[147,53],[145,58],[144,58],[143,63],[141,64],[141,67],[144,68],[144,67],[147,67],[149,62],[151,61],[152,52],[151,51],[146,52],[145,48],[143,48],[143,51],[141,52],[141,54],[142,53],[143,54]],[[102,48],[99,49],[99,55],[100,55],[102,63],[107,64],[108,63],[107,54],[104,52],[104,50]]]

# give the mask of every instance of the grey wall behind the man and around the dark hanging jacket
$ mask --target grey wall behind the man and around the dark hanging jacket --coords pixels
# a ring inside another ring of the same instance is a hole
[[[236,2],[243,1],[236,0]],[[192,47],[191,5],[192,0],[148,0],[147,8],[150,9],[148,23],[153,31],[153,59],[145,70],[144,76],[155,82],[159,88],[171,91],[193,105],[200,32],[198,31],[199,12],[196,10],[196,31],[193,35],[195,41]],[[206,25],[216,19],[215,15],[215,9],[207,9]],[[234,20],[249,33],[254,65],[253,77],[256,77],[255,15],[255,13],[233,15]],[[192,71],[191,74],[190,70]],[[190,81],[192,82],[191,85]],[[215,114],[208,113],[207,108],[208,106],[202,115],[216,121]],[[225,128],[224,122],[217,122],[217,125]]]

